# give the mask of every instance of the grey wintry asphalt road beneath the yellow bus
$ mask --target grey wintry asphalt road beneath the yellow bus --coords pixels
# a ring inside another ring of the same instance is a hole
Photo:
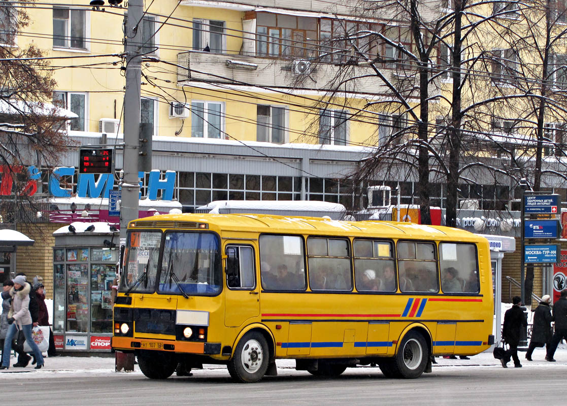
[[[386,379],[378,368],[335,379],[279,368],[278,377],[232,383],[226,369],[150,380],[139,373],[0,375],[2,404],[44,405],[541,405],[565,403],[567,364],[434,367],[421,378]],[[553,402],[553,403],[551,403]]]

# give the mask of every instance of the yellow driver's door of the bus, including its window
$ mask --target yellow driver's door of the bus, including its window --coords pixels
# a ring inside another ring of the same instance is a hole
[[[240,327],[260,314],[255,252],[250,245],[227,244],[225,254],[225,325]]]

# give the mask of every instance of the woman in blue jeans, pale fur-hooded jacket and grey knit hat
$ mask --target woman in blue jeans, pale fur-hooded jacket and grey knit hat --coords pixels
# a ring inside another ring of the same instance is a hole
[[[35,369],[40,369],[44,365],[43,356],[41,351],[37,348],[37,344],[32,338],[32,316],[29,313],[29,292],[31,291],[31,286],[26,282],[26,277],[23,275],[18,275],[14,278],[14,286],[10,289],[10,297],[12,298],[12,303],[10,306],[10,311],[8,313],[8,323],[10,327],[6,333],[6,339],[4,342],[3,352],[6,354],[10,353],[11,342],[16,335],[18,330],[24,332],[26,336],[26,341],[29,347],[32,349],[33,354],[37,360],[37,366]],[[8,369],[10,366],[10,357],[3,357],[2,365],[0,369]]]

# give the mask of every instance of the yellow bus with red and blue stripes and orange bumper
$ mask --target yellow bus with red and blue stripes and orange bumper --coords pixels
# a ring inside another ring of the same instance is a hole
[[[112,348],[146,377],[227,365],[238,382],[378,365],[417,378],[431,356],[493,344],[488,241],[442,226],[263,214],[132,221]]]

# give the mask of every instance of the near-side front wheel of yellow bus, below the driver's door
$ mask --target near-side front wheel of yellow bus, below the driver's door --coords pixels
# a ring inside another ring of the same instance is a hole
[[[228,368],[232,379],[241,383],[258,382],[268,370],[268,342],[257,331],[247,332],[234,350]]]

